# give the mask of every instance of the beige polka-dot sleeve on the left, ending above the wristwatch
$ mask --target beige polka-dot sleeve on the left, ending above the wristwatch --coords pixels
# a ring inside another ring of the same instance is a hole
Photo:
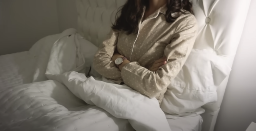
[[[119,32],[110,31],[94,56],[93,67],[100,75],[120,84],[123,82],[121,71],[111,60],[117,45],[118,35]]]

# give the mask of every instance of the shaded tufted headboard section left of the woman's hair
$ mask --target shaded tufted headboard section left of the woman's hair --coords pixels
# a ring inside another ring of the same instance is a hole
[[[126,0],[77,0],[78,32],[99,46],[115,22],[118,8]]]

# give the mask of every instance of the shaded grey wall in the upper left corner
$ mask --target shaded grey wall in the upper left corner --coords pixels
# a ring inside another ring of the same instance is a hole
[[[0,0],[0,55],[29,50],[56,33],[56,0]]]

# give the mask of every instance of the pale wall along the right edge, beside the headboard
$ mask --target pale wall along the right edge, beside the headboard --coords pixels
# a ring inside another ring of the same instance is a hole
[[[215,131],[245,131],[256,122],[256,0],[251,1]]]

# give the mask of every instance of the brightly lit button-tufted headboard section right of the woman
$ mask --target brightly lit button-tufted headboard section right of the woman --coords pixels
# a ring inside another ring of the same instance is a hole
[[[194,48],[208,49],[232,67],[251,0],[192,0],[199,33]],[[213,131],[228,77],[217,87],[218,101],[203,106],[202,131]]]

